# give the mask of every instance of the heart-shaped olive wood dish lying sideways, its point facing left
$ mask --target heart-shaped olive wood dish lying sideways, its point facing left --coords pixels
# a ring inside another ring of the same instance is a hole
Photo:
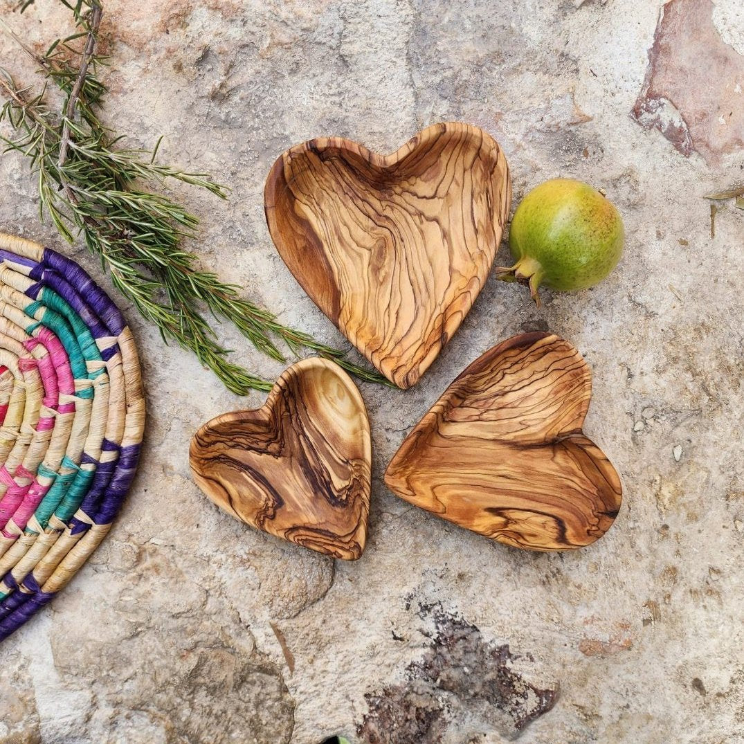
[[[618,514],[615,468],[584,436],[591,373],[548,333],[469,365],[405,438],[385,484],[417,507],[536,551],[589,545]]]

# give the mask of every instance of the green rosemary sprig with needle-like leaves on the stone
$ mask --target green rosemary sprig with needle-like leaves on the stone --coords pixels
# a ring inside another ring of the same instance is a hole
[[[194,237],[198,220],[168,196],[141,184],[173,179],[223,199],[225,188],[205,173],[185,173],[156,163],[159,141],[151,153],[119,146],[121,137],[103,126],[98,116],[106,93],[97,77],[106,62],[97,54],[103,7],[100,0],[60,2],[74,14],[78,31],[57,39],[43,55],[0,20],[0,28],[33,58],[46,79],[35,92],[33,87],[17,86],[6,71],[0,76],[0,93],[7,99],[0,122],[13,132],[0,135],[0,140],[5,152],[15,150],[28,158],[38,179],[42,218],[47,214],[70,243],[80,235],[100,257],[116,289],[160,329],[163,340],[192,350],[234,393],[269,390],[272,385],[228,359],[206,311],[216,320],[230,321],[272,359],[285,361],[276,339],[292,353],[309,349],[361,379],[385,382],[378,373],[349,362],[343,351],[280,324],[272,313],[242,298],[240,287],[196,267],[196,255],[181,244]],[[32,3],[25,1],[22,10]],[[83,39],[83,48],[77,48],[77,39]],[[61,115],[48,106],[48,83],[65,97]]]

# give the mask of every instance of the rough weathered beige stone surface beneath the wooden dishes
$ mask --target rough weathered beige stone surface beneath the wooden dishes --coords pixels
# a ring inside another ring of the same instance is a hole
[[[3,18],[31,43],[46,48],[65,33],[61,4],[37,0],[22,17],[15,5],[0,1]],[[739,7],[717,0],[711,10],[736,54]],[[319,744],[344,734],[362,743],[367,722],[380,719],[374,701],[388,688],[410,696],[411,670],[434,660],[441,681],[417,678],[428,697],[414,710],[440,711],[422,744],[739,742],[744,211],[723,203],[711,238],[702,195],[739,182],[744,161],[735,148],[719,161],[685,158],[633,121],[661,2],[112,0],[107,9],[107,115],[134,144],[162,134],[165,160],[231,185],[228,202],[178,188],[203,218],[194,248],[286,323],[342,341],[283,266],[263,218],[269,167],[316,135],[386,152],[432,121],[461,118],[504,147],[515,206],[554,176],[606,190],[625,220],[626,251],[600,286],[545,292],[540,309],[491,278],[418,385],[362,385],[370,532],[364,557],[335,568],[199,494],[190,434],[263,397],[229,394],[125,306],[150,405],[141,471],[89,563],[0,647],[0,742]],[[31,80],[33,68],[0,44],[2,65]],[[693,83],[693,103],[708,100],[707,84]],[[16,156],[0,158],[0,182],[0,229],[65,250],[111,289],[82,246],[39,223],[36,183]],[[571,554],[494,545],[381,482],[456,374],[526,330],[558,333],[586,357],[586,432],[623,479],[615,525]],[[281,365],[221,333],[246,364],[278,376]],[[465,628],[472,652],[463,641],[437,645],[443,631],[426,606]],[[559,686],[553,708],[519,731],[487,692],[506,646],[520,684]],[[401,708],[399,731],[410,713]]]

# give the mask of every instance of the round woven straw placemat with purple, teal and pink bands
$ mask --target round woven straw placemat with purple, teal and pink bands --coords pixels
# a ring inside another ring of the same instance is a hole
[[[77,263],[0,233],[0,640],[109,531],[143,427],[118,307]]]

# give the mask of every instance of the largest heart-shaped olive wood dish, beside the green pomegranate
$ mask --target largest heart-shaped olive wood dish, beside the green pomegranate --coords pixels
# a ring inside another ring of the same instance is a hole
[[[289,270],[400,388],[417,382],[470,310],[510,203],[504,153],[460,122],[429,126],[391,155],[310,140],[280,155],[264,190]]]

